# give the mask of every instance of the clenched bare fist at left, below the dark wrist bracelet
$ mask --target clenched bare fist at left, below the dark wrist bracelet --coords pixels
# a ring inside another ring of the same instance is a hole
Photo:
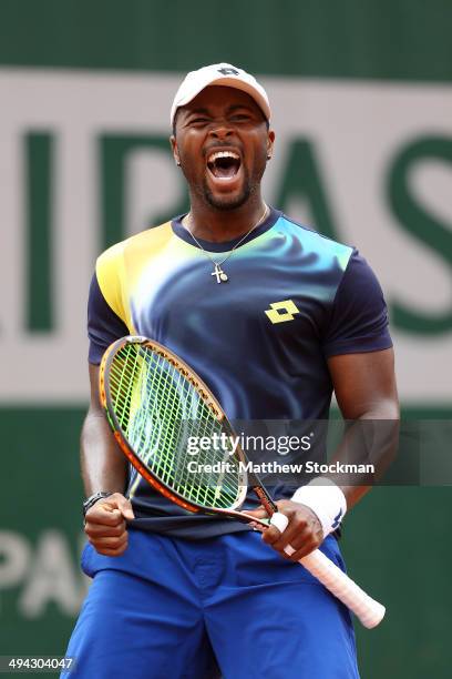
[[[135,518],[130,500],[113,493],[93,505],[85,516],[85,534],[94,549],[104,556],[120,556],[127,549],[125,519]]]

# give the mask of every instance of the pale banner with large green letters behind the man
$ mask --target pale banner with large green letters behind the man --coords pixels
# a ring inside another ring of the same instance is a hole
[[[0,69],[0,403],[85,402],[96,254],[187,204],[167,142],[181,78]],[[452,87],[263,82],[267,200],[361,251],[389,304],[402,401],[446,404]]]

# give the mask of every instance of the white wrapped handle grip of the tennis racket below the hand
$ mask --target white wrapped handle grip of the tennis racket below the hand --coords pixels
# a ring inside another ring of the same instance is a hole
[[[285,551],[290,556],[294,548],[288,545]],[[359,587],[347,574],[333,564],[322,551],[316,549],[299,560],[331,594],[345,604],[362,622],[371,629],[384,617],[386,608]]]

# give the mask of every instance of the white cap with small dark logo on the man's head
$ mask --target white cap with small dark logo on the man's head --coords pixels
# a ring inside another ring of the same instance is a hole
[[[243,90],[255,100],[266,119],[270,120],[270,104],[268,103],[267,92],[264,90],[263,85],[257,82],[254,75],[250,75],[243,69],[238,69],[230,63],[213,63],[197,71],[191,71],[185,77],[185,80],[176,92],[171,108],[172,125],[177,109],[189,103],[208,85],[225,85],[227,88]]]

